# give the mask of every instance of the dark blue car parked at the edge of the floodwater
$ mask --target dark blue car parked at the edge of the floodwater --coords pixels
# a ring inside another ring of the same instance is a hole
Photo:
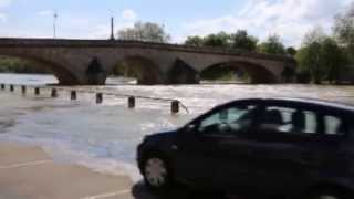
[[[145,137],[146,185],[227,193],[354,199],[354,108],[315,100],[251,98]]]

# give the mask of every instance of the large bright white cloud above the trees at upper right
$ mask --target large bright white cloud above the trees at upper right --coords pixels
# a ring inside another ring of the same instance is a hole
[[[347,3],[348,0],[251,0],[236,14],[186,23],[184,36],[246,29],[261,40],[277,33],[288,45],[300,45],[302,36],[315,25],[329,32],[333,17]]]

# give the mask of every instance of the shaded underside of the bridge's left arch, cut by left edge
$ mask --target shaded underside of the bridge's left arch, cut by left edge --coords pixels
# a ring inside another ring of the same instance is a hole
[[[14,57],[33,63],[37,67],[48,69],[58,78],[60,85],[77,85],[80,80],[63,65],[53,61],[23,54],[12,54],[0,52],[0,57]]]

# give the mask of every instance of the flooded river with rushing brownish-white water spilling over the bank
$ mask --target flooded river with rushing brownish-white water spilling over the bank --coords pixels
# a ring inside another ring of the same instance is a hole
[[[44,85],[56,83],[51,75],[0,74],[0,83]],[[111,78],[110,83],[126,83]],[[0,91],[0,142],[42,146],[54,160],[87,166],[110,174],[129,174],[139,179],[135,166],[135,148],[144,135],[175,128],[219,103],[244,97],[310,97],[354,104],[354,86],[315,85],[181,85],[138,86],[107,85],[80,87],[127,95],[180,100],[190,111],[171,116],[169,103],[138,100],[137,108],[126,108],[126,98],[104,96],[95,105],[95,96],[80,93],[70,101],[69,92],[50,98],[48,91],[27,96]]]

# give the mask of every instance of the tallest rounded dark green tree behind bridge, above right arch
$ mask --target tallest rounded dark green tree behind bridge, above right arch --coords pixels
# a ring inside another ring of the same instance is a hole
[[[257,49],[258,39],[248,35],[246,30],[238,30],[237,33],[231,35],[231,40],[233,49],[241,49],[249,52],[253,52]]]

